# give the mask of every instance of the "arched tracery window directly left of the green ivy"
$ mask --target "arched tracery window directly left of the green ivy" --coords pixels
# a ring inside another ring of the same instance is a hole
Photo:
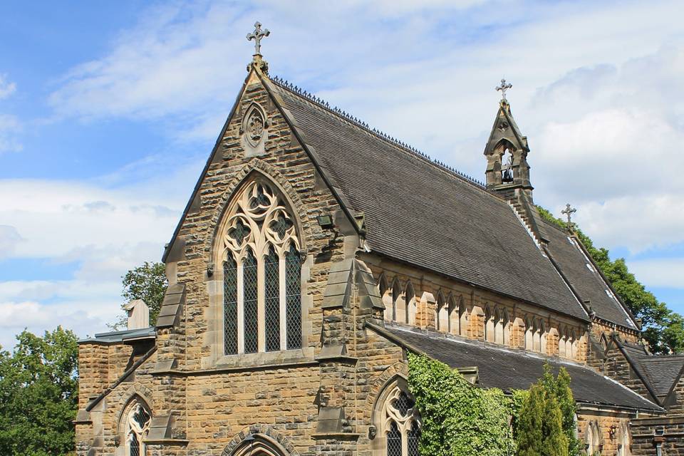
[[[387,456],[418,456],[420,417],[415,400],[399,384],[390,388],[382,410]]]

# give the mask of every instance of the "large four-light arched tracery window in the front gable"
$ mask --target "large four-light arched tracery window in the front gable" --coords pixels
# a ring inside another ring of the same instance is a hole
[[[301,257],[296,227],[271,185],[237,195],[222,237],[224,353],[301,348]]]

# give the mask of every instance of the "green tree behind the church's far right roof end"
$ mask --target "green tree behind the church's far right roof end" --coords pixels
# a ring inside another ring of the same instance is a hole
[[[566,229],[566,224],[554,217],[543,207],[538,207],[541,217]],[[629,307],[632,313],[641,318],[643,338],[651,346],[653,353],[682,353],[684,351],[684,318],[658,301],[650,291],[639,282],[627,268],[625,259],[611,260],[608,249],[594,247],[594,242],[578,227],[574,227],[577,237],[591,255],[613,289]]]

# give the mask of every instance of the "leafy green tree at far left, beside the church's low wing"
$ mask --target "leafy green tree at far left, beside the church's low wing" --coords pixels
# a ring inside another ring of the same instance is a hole
[[[24,331],[0,350],[0,455],[71,455],[78,405],[76,336]]]

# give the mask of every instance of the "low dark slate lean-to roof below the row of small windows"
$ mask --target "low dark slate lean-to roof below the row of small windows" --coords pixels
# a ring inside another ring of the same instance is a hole
[[[504,391],[526,390],[539,379],[543,373],[544,362],[548,361],[555,372],[561,366],[566,368],[571,377],[570,386],[574,398],[580,403],[662,411],[658,405],[620,383],[576,363],[467,341],[442,333],[427,333],[393,325],[387,325],[385,328],[372,324],[368,326],[380,334],[383,331],[388,333],[395,338],[395,343],[400,343],[409,350],[425,353],[452,368],[477,366],[479,384],[485,388],[500,388]]]

